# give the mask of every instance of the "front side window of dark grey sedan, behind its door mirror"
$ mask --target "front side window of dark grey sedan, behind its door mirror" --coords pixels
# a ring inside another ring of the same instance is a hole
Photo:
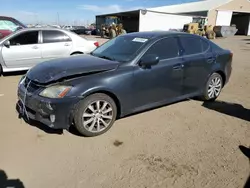
[[[145,55],[147,54],[155,54],[160,58],[160,60],[178,57],[179,46],[177,39],[176,38],[162,39],[153,44]]]

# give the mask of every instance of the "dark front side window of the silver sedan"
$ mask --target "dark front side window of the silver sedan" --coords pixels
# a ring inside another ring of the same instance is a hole
[[[37,43],[38,31],[25,32],[10,39],[11,46],[32,45]]]

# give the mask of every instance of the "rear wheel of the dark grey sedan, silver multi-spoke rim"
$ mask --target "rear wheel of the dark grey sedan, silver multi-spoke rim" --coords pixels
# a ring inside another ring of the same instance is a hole
[[[202,99],[205,101],[215,101],[219,97],[222,87],[223,79],[221,75],[213,73],[206,83]]]

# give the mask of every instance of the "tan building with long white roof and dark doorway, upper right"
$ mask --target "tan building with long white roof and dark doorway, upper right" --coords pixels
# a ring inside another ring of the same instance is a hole
[[[235,24],[237,34],[250,35],[249,0],[204,0],[193,3],[149,8],[152,11],[206,16],[209,25]]]

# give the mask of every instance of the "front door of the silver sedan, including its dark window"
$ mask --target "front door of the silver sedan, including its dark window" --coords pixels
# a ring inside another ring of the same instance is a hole
[[[10,46],[3,46],[2,55],[8,68],[30,68],[41,62],[39,31],[28,31],[11,38]]]

